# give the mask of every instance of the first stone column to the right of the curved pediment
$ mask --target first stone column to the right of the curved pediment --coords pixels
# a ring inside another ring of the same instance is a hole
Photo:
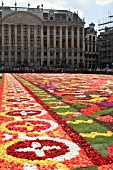
[[[50,66],[50,27],[47,26],[47,66]]]

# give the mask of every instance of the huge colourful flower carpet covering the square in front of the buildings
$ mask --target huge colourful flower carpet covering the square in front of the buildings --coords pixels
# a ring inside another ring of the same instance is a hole
[[[113,77],[8,74],[0,170],[113,169]]]

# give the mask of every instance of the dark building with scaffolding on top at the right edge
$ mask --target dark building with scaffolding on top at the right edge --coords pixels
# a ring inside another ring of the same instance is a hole
[[[113,69],[113,15],[100,21],[99,24],[99,60],[100,68]]]

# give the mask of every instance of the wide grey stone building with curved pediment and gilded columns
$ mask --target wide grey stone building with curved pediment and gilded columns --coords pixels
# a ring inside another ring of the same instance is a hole
[[[0,66],[71,67],[84,62],[84,20],[68,10],[0,7]]]

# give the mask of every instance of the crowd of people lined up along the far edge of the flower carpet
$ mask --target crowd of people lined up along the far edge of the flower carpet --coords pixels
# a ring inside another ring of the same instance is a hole
[[[90,73],[90,74],[113,74],[109,68],[53,68],[53,67],[1,67],[0,73]]]

